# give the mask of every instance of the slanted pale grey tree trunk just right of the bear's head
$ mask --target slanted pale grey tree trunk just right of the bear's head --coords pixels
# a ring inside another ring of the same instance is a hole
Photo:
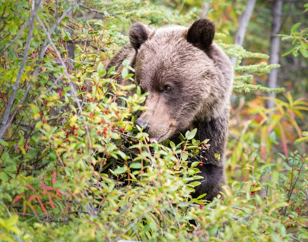
[[[253,14],[255,5],[256,5],[256,0],[248,0],[245,12],[241,16],[239,28],[235,36],[235,42],[234,42],[235,45],[239,45],[239,46],[243,45],[246,29],[247,29],[249,20],[251,19],[251,16]],[[236,61],[237,61],[236,57],[231,58],[232,64],[236,64]]]

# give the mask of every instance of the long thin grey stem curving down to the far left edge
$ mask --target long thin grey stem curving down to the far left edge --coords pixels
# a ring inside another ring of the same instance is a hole
[[[24,53],[22,65],[21,65],[21,68],[18,72],[16,82],[14,84],[8,105],[7,105],[5,112],[4,112],[2,125],[1,125],[1,128],[0,128],[0,139],[2,139],[2,137],[4,136],[4,134],[6,132],[7,122],[9,120],[10,112],[11,112],[11,109],[12,109],[13,104],[15,102],[15,96],[16,96],[16,93],[17,93],[17,90],[18,90],[18,86],[21,83],[21,77],[22,77],[22,74],[24,72],[26,62],[27,62],[28,53],[29,53],[30,44],[31,44],[31,38],[32,38],[32,34],[33,34],[33,29],[34,29],[34,21],[35,21],[35,18],[36,18],[36,12],[37,12],[38,6],[40,6],[40,3],[41,3],[41,0],[38,0],[37,4],[35,4],[35,1],[36,0],[34,0],[33,4],[32,4],[32,10],[31,10],[30,19],[29,19],[29,31],[28,31],[27,43],[26,43],[26,48],[25,48],[25,53]]]

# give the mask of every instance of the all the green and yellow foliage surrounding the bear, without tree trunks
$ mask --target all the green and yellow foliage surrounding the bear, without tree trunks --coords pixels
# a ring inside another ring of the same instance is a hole
[[[228,184],[211,203],[190,197],[202,166],[190,159],[208,140],[192,130],[180,144],[149,144],[133,125],[146,94],[137,87],[127,97],[136,86],[116,82],[133,69],[104,69],[128,43],[130,24],[188,26],[203,2],[0,2],[0,241],[308,240],[303,4],[292,10],[302,24],[285,17],[281,33],[293,41],[282,42],[285,91],[266,87],[279,65],[258,53],[268,52],[267,1],[257,5],[247,50],[232,45],[245,1],[212,1],[215,40],[237,63]],[[280,93],[274,108],[264,92]]]

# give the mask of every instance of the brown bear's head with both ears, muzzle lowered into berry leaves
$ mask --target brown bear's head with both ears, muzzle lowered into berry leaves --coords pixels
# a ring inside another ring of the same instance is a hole
[[[213,43],[215,26],[199,19],[189,28],[150,29],[136,23],[129,38],[136,50],[135,79],[148,92],[136,124],[150,142],[192,129],[201,120],[216,118],[229,104],[233,69]]]

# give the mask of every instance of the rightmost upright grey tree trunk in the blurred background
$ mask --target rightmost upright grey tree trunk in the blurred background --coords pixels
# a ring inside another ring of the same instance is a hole
[[[271,49],[269,50],[269,64],[278,64],[279,63],[279,45],[280,37],[275,36],[279,33],[281,27],[281,14],[282,14],[282,4],[283,0],[276,0],[272,8],[272,31],[271,31]],[[268,74],[267,77],[267,86],[269,88],[277,87],[277,75],[278,69],[273,69]],[[276,93],[267,93],[268,97],[276,97]],[[267,108],[275,107],[275,104],[272,100],[266,101]]]

